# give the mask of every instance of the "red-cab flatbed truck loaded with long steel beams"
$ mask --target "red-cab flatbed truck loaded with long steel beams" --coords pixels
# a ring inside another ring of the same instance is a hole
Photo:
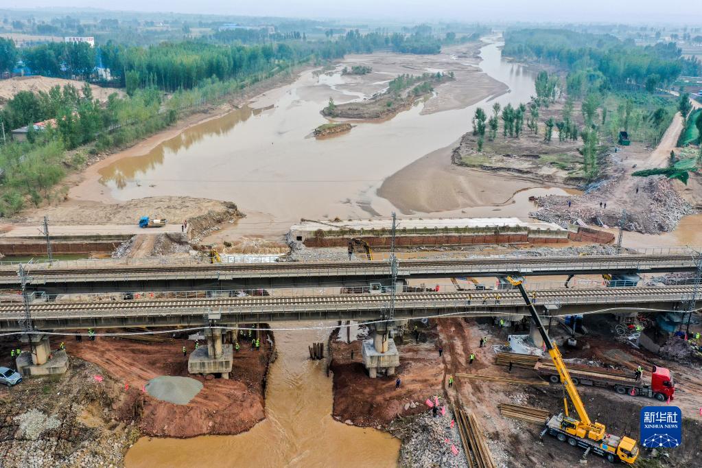
[[[560,375],[552,363],[539,361],[534,370],[542,377],[556,384]],[[571,364],[568,368],[574,385],[592,385],[614,389],[620,395],[648,396],[658,401],[673,400],[675,383],[670,370],[653,366],[650,376],[643,374],[637,377],[635,373],[624,370],[607,369],[595,366]]]

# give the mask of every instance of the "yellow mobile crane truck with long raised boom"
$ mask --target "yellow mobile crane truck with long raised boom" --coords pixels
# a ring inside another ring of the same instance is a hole
[[[607,458],[609,462],[621,460],[625,463],[633,464],[639,456],[637,442],[627,436],[608,434],[604,424],[590,420],[590,415],[585,410],[583,400],[563,361],[563,356],[558,347],[551,342],[548,333],[543,328],[543,323],[538,317],[536,307],[529,300],[529,295],[527,295],[527,290],[524,289],[522,281],[512,279],[510,276],[508,276],[508,280],[512,283],[512,286],[519,289],[519,293],[529,309],[531,320],[534,321],[534,325],[538,328],[538,333],[543,338],[548,354],[551,356],[553,365],[558,371],[558,378],[570,397],[576,413],[578,413],[579,419],[569,415],[568,400],[564,396],[564,413],[550,417],[541,431],[541,436],[543,437],[544,434],[548,433],[559,441],[567,441],[571,446],[584,448],[585,453],[583,457],[587,457],[590,452],[595,452],[597,455]]]

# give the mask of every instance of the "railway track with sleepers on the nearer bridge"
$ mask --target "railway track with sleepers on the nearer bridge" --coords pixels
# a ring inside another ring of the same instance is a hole
[[[592,288],[536,290],[539,304],[583,305],[616,304],[626,302],[672,302],[682,300],[692,293],[692,286],[650,286],[632,288]],[[168,293],[158,293],[159,296]],[[174,293],[175,294],[175,293]],[[319,296],[246,296],[171,299],[149,295],[138,300],[114,300],[114,296],[95,295],[93,300],[77,302],[33,302],[29,305],[33,316],[55,316],[62,313],[91,312],[162,312],[183,314],[183,311],[202,309],[224,309],[242,311],[277,312],[286,310],[341,310],[384,309],[388,307],[389,294],[364,295],[319,295]],[[523,306],[524,301],[516,290],[472,291],[447,293],[398,293],[395,308],[427,309],[448,307],[471,309],[481,307]],[[21,302],[0,302],[0,316],[24,314]],[[37,315],[39,314],[39,315]]]

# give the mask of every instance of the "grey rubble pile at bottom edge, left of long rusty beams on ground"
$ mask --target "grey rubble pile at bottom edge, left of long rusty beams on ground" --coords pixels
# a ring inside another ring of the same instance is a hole
[[[465,467],[468,462],[463,454],[458,426],[451,429],[450,411],[445,416],[432,417],[427,413],[411,423],[411,436],[402,441],[399,451],[402,467]],[[449,442],[446,442],[449,439]],[[451,444],[458,449],[458,455],[451,452]]]

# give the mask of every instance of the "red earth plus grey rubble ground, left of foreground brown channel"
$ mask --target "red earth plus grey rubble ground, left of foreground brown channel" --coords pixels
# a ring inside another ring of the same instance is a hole
[[[2,467],[122,466],[140,436],[239,434],[265,417],[265,381],[275,356],[267,340],[258,352],[241,340],[230,380],[188,374],[182,348],[189,355],[194,342],[168,335],[82,342],[56,337],[52,349],[62,341],[70,356],[65,375],[0,389]],[[2,365],[12,364],[10,349],[16,346],[1,342]],[[160,375],[192,377],[203,388],[186,405],[161,401],[143,390]]]

